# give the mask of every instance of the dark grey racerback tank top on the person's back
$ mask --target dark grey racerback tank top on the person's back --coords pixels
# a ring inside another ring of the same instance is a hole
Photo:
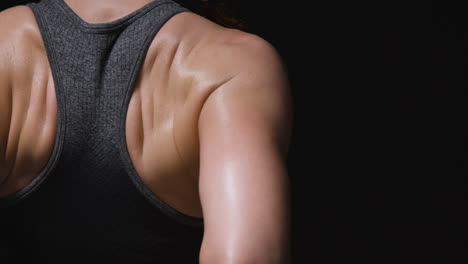
[[[57,131],[40,174],[0,199],[0,262],[198,263],[203,219],[152,193],[125,136],[132,88],[152,40],[172,16],[190,11],[156,0],[89,24],[63,0],[27,6],[52,69]]]

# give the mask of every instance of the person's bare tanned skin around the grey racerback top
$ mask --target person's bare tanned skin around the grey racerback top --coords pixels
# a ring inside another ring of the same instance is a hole
[[[84,21],[104,23],[151,0],[65,2]],[[49,160],[57,98],[32,11],[1,12],[0,35],[3,197]],[[158,197],[203,217],[201,264],[290,263],[292,118],[282,59],[259,36],[183,12],[154,38],[129,104],[128,151]]]

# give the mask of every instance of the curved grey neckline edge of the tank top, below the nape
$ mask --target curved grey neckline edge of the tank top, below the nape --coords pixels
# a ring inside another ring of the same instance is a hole
[[[106,33],[115,31],[123,26],[130,24],[132,21],[146,14],[154,7],[172,2],[171,0],[153,0],[121,18],[104,23],[88,23],[83,20],[75,11],[73,11],[73,9],[67,3],[65,3],[64,0],[49,1],[58,4],[65,15],[69,17],[75,25],[78,25],[83,31],[89,33]]]

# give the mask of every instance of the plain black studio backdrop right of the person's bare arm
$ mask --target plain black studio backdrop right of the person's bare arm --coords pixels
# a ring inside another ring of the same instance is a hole
[[[430,1],[226,2],[288,67],[294,263],[403,256],[462,263],[455,260],[466,246],[462,9]]]

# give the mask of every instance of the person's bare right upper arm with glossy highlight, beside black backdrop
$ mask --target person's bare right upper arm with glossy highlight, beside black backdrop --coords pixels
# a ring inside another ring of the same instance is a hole
[[[203,264],[289,258],[290,88],[276,50],[257,42],[234,58],[245,67],[208,96],[200,113]]]

